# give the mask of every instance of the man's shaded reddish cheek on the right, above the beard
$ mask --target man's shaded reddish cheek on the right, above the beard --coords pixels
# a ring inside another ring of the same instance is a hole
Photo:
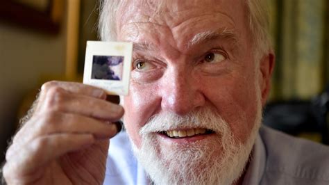
[[[251,133],[258,113],[258,93],[253,76],[237,77],[219,81],[216,90],[208,93],[210,102],[216,106],[233,131],[235,138],[244,143]]]

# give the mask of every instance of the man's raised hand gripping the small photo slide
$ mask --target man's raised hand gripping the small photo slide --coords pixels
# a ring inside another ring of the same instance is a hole
[[[13,138],[3,177],[8,184],[102,184],[112,122],[124,109],[81,83],[42,86],[33,116]]]

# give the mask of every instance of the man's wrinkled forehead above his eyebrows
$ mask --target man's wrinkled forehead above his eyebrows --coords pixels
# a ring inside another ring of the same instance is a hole
[[[232,24],[246,17],[244,0],[127,0],[117,13],[118,29],[124,24],[153,22],[169,28],[186,19],[221,13]]]

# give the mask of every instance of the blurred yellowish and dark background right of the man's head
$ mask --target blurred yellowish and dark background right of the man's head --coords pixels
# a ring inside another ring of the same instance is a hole
[[[263,123],[329,144],[329,1],[267,1],[276,68]]]

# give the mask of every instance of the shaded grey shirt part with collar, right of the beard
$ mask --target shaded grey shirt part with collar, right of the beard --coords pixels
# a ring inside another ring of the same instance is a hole
[[[329,147],[262,127],[244,184],[329,185]]]

